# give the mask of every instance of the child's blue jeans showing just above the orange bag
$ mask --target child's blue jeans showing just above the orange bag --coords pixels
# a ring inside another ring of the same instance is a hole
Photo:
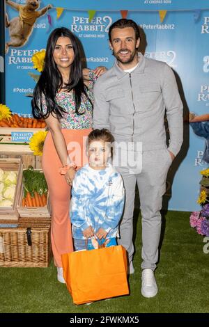
[[[79,250],[94,250],[95,248],[98,248],[98,245],[105,243],[105,247],[109,247],[109,246],[116,246],[116,239],[114,237],[112,237],[111,239],[95,239],[94,237],[92,237],[91,239],[88,239],[88,244],[87,244],[87,248],[86,248],[86,241],[85,239],[73,239],[74,242],[74,247],[76,251]]]

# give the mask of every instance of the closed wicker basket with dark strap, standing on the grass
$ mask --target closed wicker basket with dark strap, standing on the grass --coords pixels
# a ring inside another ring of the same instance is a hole
[[[51,258],[49,225],[0,228],[0,266],[47,267]]]

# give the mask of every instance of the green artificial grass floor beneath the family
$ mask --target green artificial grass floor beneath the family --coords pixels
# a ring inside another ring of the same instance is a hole
[[[205,244],[189,226],[189,212],[168,212],[163,219],[164,239],[160,262],[155,270],[159,293],[154,298],[141,296],[141,216],[138,218],[139,212],[136,214],[135,273],[129,278],[130,296],[91,305],[74,305],[66,286],[56,280],[56,267],[52,260],[48,268],[0,268],[0,312],[82,313],[84,317],[97,312],[119,315],[208,312],[209,253],[203,253]]]

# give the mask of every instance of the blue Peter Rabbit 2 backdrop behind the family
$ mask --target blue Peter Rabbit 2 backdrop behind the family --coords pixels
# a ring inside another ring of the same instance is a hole
[[[25,1],[14,1],[23,4]],[[89,68],[98,65],[111,67],[114,58],[108,46],[108,30],[112,22],[121,18],[121,10],[128,10],[127,18],[134,19],[146,36],[145,56],[166,61],[176,72],[186,111],[207,113],[209,106],[209,1],[199,0],[132,0],[40,1],[40,8],[52,4],[54,8],[37,19],[33,33],[23,47],[10,47],[6,55],[6,105],[15,113],[31,113],[31,99],[35,81],[31,57],[45,48],[52,29],[66,26],[81,40]],[[58,18],[59,10],[63,8]],[[89,15],[95,10],[90,22]],[[167,10],[163,12],[162,10]],[[9,19],[17,10],[6,5]],[[161,19],[160,19],[161,17]],[[163,19],[164,17],[164,19]],[[9,40],[6,29],[6,41]],[[190,133],[189,133],[190,131]],[[204,139],[195,136],[185,123],[185,144],[173,178],[167,183],[169,209],[192,211],[199,209],[199,171],[207,168],[202,155]],[[190,145],[189,145],[190,144]],[[170,187],[172,182],[172,189]],[[172,194],[171,194],[172,191]]]

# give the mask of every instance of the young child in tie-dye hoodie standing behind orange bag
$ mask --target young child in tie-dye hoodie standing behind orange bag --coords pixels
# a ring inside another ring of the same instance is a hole
[[[123,213],[121,174],[109,163],[114,137],[107,129],[88,135],[88,164],[79,169],[72,183],[70,219],[75,250],[116,245]]]

